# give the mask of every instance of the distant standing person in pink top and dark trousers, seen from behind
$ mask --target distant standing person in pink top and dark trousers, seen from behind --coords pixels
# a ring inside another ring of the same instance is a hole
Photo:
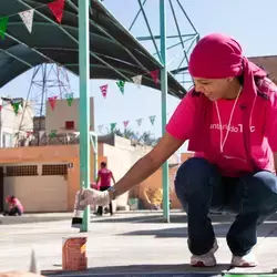
[[[115,184],[115,179],[113,177],[113,173],[106,167],[105,162],[102,162],[100,166],[101,168],[98,173],[96,184],[99,184],[100,182],[100,191],[104,192],[112,186],[112,181],[113,184]],[[110,206],[110,214],[113,215],[112,202],[109,203],[109,206]],[[103,206],[99,206],[96,214],[103,215]]]

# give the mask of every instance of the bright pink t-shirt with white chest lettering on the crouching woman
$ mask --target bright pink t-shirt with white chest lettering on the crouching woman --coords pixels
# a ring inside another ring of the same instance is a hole
[[[166,125],[166,131],[175,138],[183,141],[189,140],[192,126],[194,124],[196,114],[197,98],[191,96],[189,92],[178,104],[176,111]],[[277,152],[277,104],[275,96],[268,101],[268,107],[264,119],[259,122],[252,122],[250,131],[255,132],[254,145],[250,145],[252,155],[255,161],[260,161],[263,170],[275,171],[273,152]],[[229,123],[230,113],[235,100],[218,100],[217,106],[223,125],[223,141],[226,135],[227,126]],[[256,102],[257,103],[257,102]],[[243,109],[238,98],[237,104],[234,110],[233,120],[228,136],[220,152],[220,124],[216,110],[215,102],[213,102],[212,120],[209,141],[212,152],[216,155],[207,156],[206,153],[195,153],[195,156],[205,157],[211,163],[217,165],[224,176],[239,176],[239,172],[250,172],[252,166],[247,164],[245,142],[243,134]],[[260,113],[259,107],[254,105],[253,113]],[[254,117],[254,116],[253,116]],[[257,117],[257,116],[256,116]],[[203,140],[206,140],[203,137]],[[261,151],[263,148],[263,151]],[[260,163],[259,163],[260,164]]]

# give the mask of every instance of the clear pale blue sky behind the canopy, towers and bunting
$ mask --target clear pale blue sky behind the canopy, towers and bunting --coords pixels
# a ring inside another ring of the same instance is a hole
[[[176,10],[177,21],[182,34],[192,33],[193,29],[187,19],[177,9],[177,0],[173,0]],[[277,54],[277,33],[276,32],[276,0],[179,0],[188,18],[193,22],[201,37],[212,32],[224,32],[235,37],[242,44],[247,57],[274,55]],[[115,18],[129,28],[138,11],[137,0],[104,0],[105,7]],[[127,10],[127,12],[125,12]],[[147,0],[145,12],[150,20],[151,29],[154,34],[160,34],[160,13],[158,0]],[[146,23],[140,16],[132,29],[135,37],[148,35]],[[176,34],[176,27],[167,1],[167,35]],[[160,41],[156,41],[157,44]],[[167,40],[167,45],[174,41]],[[144,44],[146,49],[154,53],[152,42]],[[93,50],[92,50],[93,51]],[[167,62],[175,66],[182,59],[182,49],[168,51]],[[171,69],[171,68],[170,68]],[[0,95],[11,95],[13,98],[27,98],[31,83],[33,70],[30,70],[9,84],[0,89]],[[70,86],[74,95],[79,95],[79,79],[70,72]],[[100,85],[109,84],[107,95],[104,99],[100,91]],[[115,81],[92,80],[90,82],[90,94],[94,98],[95,126],[103,125],[102,132],[110,129],[110,123],[116,123],[123,130],[123,121],[130,121],[129,127],[143,133],[152,132],[154,136],[162,134],[161,123],[161,92],[150,88],[126,83],[124,95],[120,92]],[[38,99],[40,90],[32,88],[30,96]],[[168,116],[174,112],[179,103],[178,99],[168,96]],[[148,116],[155,115],[154,125],[151,124]],[[142,125],[136,123],[137,119],[143,119]],[[96,129],[96,131],[99,131]]]

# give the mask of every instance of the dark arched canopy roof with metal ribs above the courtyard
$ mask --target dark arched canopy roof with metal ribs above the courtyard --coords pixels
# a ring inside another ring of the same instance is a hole
[[[0,17],[9,17],[4,40],[0,39],[0,88],[32,66],[55,62],[79,74],[78,0],[66,0],[62,23],[47,6],[53,0],[1,0]],[[32,33],[18,12],[34,9]],[[91,79],[133,82],[143,74],[142,84],[161,89],[151,71],[161,63],[124,29],[99,0],[90,11]],[[168,93],[183,98],[186,90],[168,73]]]

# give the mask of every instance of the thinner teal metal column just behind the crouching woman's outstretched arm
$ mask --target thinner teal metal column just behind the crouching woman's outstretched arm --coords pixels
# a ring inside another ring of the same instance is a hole
[[[167,122],[167,66],[166,66],[166,0],[160,0],[160,28],[161,28],[161,89],[162,89],[162,132],[165,132]],[[170,223],[170,185],[168,162],[163,164],[163,215],[165,222]]]

